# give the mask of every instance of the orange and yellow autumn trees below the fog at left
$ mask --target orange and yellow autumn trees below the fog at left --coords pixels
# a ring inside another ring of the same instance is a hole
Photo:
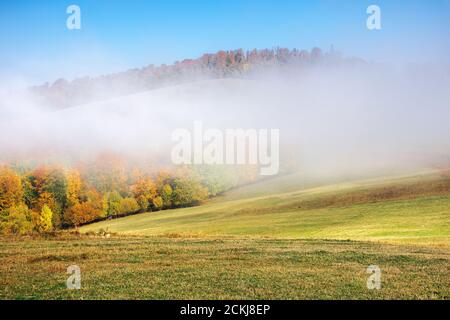
[[[77,167],[0,165],[0,233],[42,233],[198,205],[253,180],[255,172],[207,166],[145,172],[111,156]]]

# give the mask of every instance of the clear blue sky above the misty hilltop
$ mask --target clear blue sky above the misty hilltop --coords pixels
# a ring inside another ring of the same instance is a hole
[[[66,8],[81,8],[81,30]],[[381,8],[382,30],[366,28]],[[15,0],[0,4],[0,85],[95,76],[221,49],[330,45],[382,62],[450,56],[450,0]],[[448,60],[447,60],[448,61]]]

